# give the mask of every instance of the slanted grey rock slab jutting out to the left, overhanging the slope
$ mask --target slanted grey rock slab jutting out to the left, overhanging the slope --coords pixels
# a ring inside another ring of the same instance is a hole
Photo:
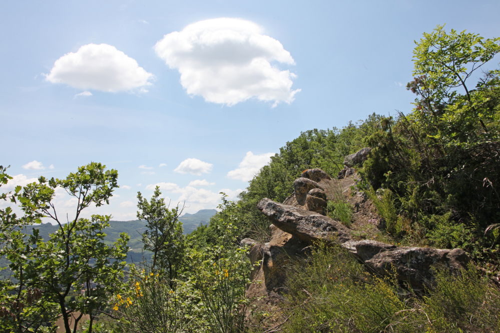
[[[318,240],[339,243],[351,239],[349,229],[329,217],[263,198],[257,208],[281,230],[312,244]]]

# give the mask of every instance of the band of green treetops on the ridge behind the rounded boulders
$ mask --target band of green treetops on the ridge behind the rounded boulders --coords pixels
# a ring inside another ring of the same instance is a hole
[[[379,119],[373,113],[366,120],[349,122],[342,129],[308,130],[281,147],[239,194],[241,237],[267,241],[269,223],[257,209],[257,203],[264,197],[282,202],[293,192],[294,180],[305,169],[319,167],[331,175],[337,174],[343,168],[345,155],[363,148],[364,138],[379,130]]]

